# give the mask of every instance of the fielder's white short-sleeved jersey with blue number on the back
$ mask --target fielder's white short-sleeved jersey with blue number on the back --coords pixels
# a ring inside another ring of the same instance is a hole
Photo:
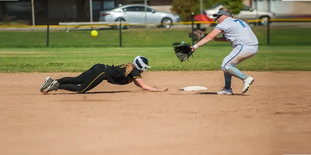
[[[222,36],[231,42],[233,48],[237,45],[258,45],[256,35],[250,26],[242,20],[228,17],[214,29],[224,30]]]

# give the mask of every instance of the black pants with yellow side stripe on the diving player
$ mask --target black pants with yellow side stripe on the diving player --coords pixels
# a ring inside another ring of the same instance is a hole
[[[106,79],[107,69],[104,64],[95,64],[77,77],[57,79],[58,89],[85,93]]]

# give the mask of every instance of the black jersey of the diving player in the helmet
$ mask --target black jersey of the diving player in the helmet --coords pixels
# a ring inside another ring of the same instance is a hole
[[[135,67],[132,71],[125,77],[126,72],[126,64],[120,64],[117,66],[109,66],[107,67],[107,81],[116,85],[126,85],[134,81],[135,78],[142,78],[140,71]]]

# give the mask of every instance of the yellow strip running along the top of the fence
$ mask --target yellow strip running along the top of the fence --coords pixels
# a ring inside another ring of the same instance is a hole
[[[288,21],[288,22],[299,22],[299,21],[311,21],[311,18],[302,18],[302,19],[269,19],[270,21]],[[249,23],[252,22],[261,22],[265,20],[248,20]],[[194,24],[216,24],[216,21],[194,21]],[[191,21],[189,22],[177,22],[173,23],[174,25],[181,25],[181,24],[192,24]],[[119,26],[120,24],[91,24],[91,25],[49,25],[50,27],[100,27],[100,26]],[[147,26],[147,25],[162,25],[162,23],[142,23],[142,24],[121,24],[122,26]],[[20,27],[20,28],[31,28],[31,27],[38,27],[38,28],[46,28],[47,25],[0,25],[0,28],[12,28],[12,27]]]

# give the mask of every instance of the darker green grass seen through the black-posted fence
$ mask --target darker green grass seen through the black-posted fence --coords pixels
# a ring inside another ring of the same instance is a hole
[[[267,28],[252,27],[259,44],[267,44]],[[212,28],[207,29],[209,33]],[[122,45],[124,47],[162,46],[171,47],[174,42],[192,43],[188,37],[190,29],[124,29]],[[96,38],[91,37],[90,30],[51,31],[50,47],[103,47],[119,46],[119,30],[99,30]],[[309,28],[271,28],[271,44],[296,45],[311,44]],[[2,31],[0,32],[0,48],[46,47],[45,31]],[[285,44],[284,44],[285,43]],[[212,45],[227,45],[225,42],[211,41]]]

